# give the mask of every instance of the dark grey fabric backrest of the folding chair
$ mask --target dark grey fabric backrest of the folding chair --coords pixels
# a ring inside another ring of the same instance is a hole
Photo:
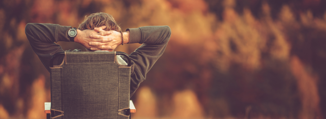
[[[64,61],[53,67],[53,59]],[[128,65],[117,63],[124,55]],[[58,52],[50,63],[51,118],[129,118],[130,58],[123,52]]]

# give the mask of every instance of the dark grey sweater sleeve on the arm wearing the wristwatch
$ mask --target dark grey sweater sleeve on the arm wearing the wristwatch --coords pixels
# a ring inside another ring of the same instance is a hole
[[[52,55],[57,52],[64,52],[61,46],[54,42],[70,42],[67,34],[69,29],[70,26],[49,23],[28,23],[25,27],[25,34],[33,51],[49,72]],[[57,58],[54,64],[60,64],[62,60],[63,57]]]

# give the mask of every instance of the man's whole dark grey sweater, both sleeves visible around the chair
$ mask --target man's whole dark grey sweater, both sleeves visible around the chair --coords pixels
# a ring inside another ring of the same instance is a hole
[[[64,52],[61,46],[54,42],[70,42],[67,34],[69,29],[70,26],[49,23],[28,23],[26,25],[27,39],[48,71],[50,71],[52,55],[57,52]],[[130,96],[132,96],[139,84],[146,79],[147,72],[163,54],[170,39],[171,30],[169,26],[144,26],[127,30],[130,31],[129,43],[142,44],[129,55],[131,59]],[[81,50],[69,50],[68,52],[78,51]],[[124,56],[121,57],[126,60]],[[58,65],[62,61],[63,57],[57,58],[53,64]]]

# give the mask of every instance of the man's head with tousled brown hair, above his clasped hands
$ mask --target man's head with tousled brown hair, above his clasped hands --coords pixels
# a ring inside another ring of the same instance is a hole
[[[121,32],[120,26],[115,22],[112,15],[103,12],[93,13],[89,16],[85,16],[85,20],[79,24],[79,30],[90,29],[93,30],[96,27],[106,26],[105,31],[114,30],[117,32]],[[92,51],[90,49],[86,49],[87,51]]]

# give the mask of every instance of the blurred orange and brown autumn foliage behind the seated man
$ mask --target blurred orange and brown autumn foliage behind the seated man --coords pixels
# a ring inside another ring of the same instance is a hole
[[[168,25],[166,51],[131,97],[136,119],[323,119],[325,0],[1,0],[0,119],[44,119],[50,74],[27,23],[78,27],[111,14],[126,28]],[[58,42],[64,50],[85,49]],[[133,52],[141,44],[115,51]]]

